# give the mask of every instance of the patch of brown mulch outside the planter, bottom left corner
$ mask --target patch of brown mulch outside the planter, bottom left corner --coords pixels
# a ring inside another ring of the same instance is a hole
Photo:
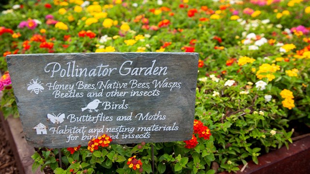
[[[0,119],[0,174],[18,174],[15,158]]]

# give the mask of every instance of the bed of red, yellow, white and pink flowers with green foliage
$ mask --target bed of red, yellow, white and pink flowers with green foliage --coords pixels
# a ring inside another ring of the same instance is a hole
[[[5,7],[4,57],[114,51],[200,57],[192,139],[115,145],[105,135],[89,147],[61,149],[62,168],[59,149],[42,148],[32,156],[34,169],[151,173],[154,145],[158,173],[238,171],[288,147],[291,122],[310,125],[309,0],[33,0]],[[0,69],[7,71],[4,58]],[[18,116],[8,73],[0,88],[4,116]]]

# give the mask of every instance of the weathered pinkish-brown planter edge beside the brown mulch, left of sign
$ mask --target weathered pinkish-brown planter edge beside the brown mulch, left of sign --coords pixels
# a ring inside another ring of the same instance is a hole
[[[19,174],[45,174],[44,171],[41,172],[39,168],[35,173],[32,173],[31,168],[33,160],[31,156],[35,151],[34,148],[26,142],[20,119],[9,116],[5,120],[2,112],[0,112],[0,118],[5,133],[9,138]]]

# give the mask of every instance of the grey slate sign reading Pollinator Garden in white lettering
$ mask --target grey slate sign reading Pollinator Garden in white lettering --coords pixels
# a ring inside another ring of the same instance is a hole
[[[50,148],[192,137],[197,53],[7,56],[28,142]]]

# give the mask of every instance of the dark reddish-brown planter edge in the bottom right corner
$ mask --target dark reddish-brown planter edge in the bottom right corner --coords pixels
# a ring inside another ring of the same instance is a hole
[[[303,161],[298,161],[300,158]],[[274,174],[292,174],[292,170],[296,174],[306,174],[310,170],[309,162],[307,163],[309,160],[310,136],[293,142],[293,144],[289,145],[289,149],[286,146],[282,146],[277,150],[258,157],[259,163],[257,165],[253,161],[249,161],[248,166],[243,172],[237,171],[235,174],[270,174],[270,171]],[[241,170],[243,165],[238,167]],[[219,174],[233,174],[233,172],[222,172]]]

